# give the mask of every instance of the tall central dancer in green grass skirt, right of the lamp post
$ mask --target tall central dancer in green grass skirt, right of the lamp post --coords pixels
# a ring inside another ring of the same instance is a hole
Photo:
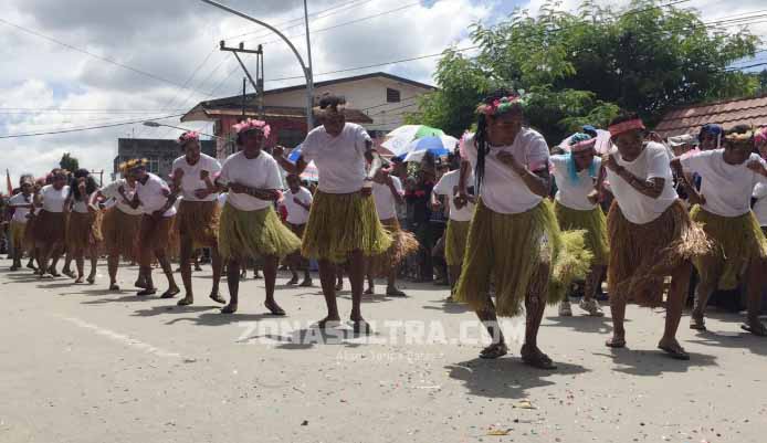
[[[346,123],[343,97],[325,96],[315,113],[322,126],[313,129],[302,145],[295,164],[282,157],[276,147],[275,158],[290,173],[302,173],[314,161],[319,172],[319,186],[314,196],[306,225],[302,254],[319,262],[319,279],[327,305],[327,316],[318,326],[338,323],[336,304],[336,267],[348,263],[351,282],[351,321],[356,331],[368,331],[361,314],[365,285],[365,257],[378,255],[391,245],[378,220],[372,199],[372,177],[381,161],[372,149],[370,136],[359,125]],[[365,171],[367,164],[370,168]]]

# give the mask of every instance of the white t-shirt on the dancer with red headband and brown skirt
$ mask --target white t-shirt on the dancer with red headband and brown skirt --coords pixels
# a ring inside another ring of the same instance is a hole
[[[626,168],[640,180],[651,178],[665,179],[661,196],[653,199],[640,193],[612,170],[607,169],[607,178],[610,181],[612,194],[616,196],[616,201],[621,212],[623,212],[623,217],[631,223],[650,223],[665,212],[679,198],[674,190],[669,156],[665,154],[663,145],[653,141],[648,143],[642,154],[631,162],[623,160],[617,148],[612,148],[610,154],[616,157],[618,165]]]

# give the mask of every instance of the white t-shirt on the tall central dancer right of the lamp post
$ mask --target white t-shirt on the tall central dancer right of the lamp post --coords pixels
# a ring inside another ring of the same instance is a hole
[[[301,154],[306,162],[314,160],[322,192],[351,193],[363,189],[368,140],[365,128],[354,123],[347,123],[338,137],[330,137],[324,126],[306,136]]]

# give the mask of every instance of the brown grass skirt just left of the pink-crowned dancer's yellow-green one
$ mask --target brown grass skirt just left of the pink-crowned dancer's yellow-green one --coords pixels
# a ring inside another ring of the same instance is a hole
[[[193,249],[213,246],[219,241],[221,209],[218,201],[181,200],[176,214],[180,235],[189,235]]]

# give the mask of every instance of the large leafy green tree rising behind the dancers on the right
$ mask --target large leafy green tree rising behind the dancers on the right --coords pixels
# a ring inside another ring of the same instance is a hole
[[[757,92],[757,80],[726,70],[755,53],[756,36],[714,31],[696,11],[660,6],[585,2],[568,13],[548,2],[537,15],[516,10],[493,27],[475,24],[479,55],[445,52],[440,89],[409,119],[460,136],[483,94],[504,85],[528,94],[530,126],[558,143],[585,123],[606,126],[619,108],[653,124],[675,106]]]

